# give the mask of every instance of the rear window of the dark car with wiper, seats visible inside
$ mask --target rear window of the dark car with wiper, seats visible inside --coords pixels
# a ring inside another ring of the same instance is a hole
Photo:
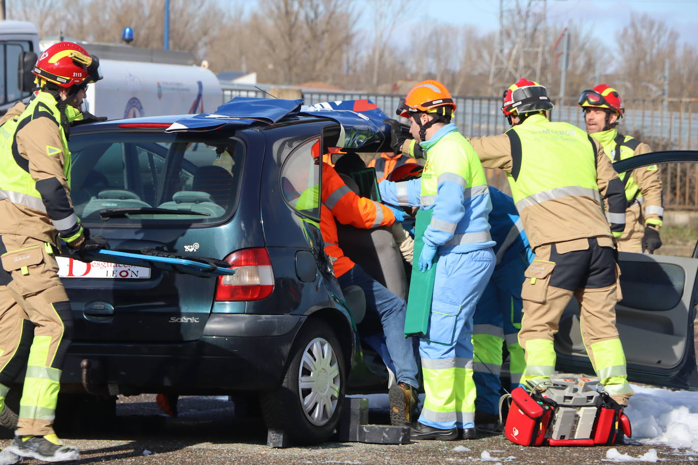
[[[70,151],[70,196],[85,224],[209,224],[237,206],[245,146],[235,137],[99,132],[74,135]]]

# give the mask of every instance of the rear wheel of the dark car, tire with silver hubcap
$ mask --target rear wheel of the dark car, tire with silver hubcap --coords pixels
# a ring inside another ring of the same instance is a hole
[[[346,383],[334,330],[323,321],[308,321],[295,338],[289,360],[282,385],[260,395],[267,428],[283,432],[298,445],[325,442],[339,421]]]

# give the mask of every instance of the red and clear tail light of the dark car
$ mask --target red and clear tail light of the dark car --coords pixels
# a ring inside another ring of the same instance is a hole
[[[225,261],[235,274],[218,276],[216,302],[262,300],[274,291],[274,271],[267,249],[237,250]]]

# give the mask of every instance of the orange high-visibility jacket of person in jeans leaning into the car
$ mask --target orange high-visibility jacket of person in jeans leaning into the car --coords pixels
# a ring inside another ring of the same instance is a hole
[[[354,266],[354,262],[339,247],[335,220],[356,228],[372,229],[390,226],[395,222],[395,215],[387,206],[356,195],[333,167],[322,163],[320,231],[325,253],[332,257],[334,275],[340,277]]]

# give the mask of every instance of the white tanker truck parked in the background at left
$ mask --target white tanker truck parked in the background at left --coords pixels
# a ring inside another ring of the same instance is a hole
[[[67,40],[67,39],[66,39]],[[39,42],[34,24],[0,21],[0,45],[6,73],[2,81],[0,114],[29,98],[36,57],[22,52],[41,51],[58,40]],[[78,42],[80,43],[80,42]],[[109,119],[214,112],[223,102],[218,78],[207,68],[194,66],[188,52],[139,49],[128,45],[80,43],[99,57],[104,79],[87,88],[85,109]],[[32,61],[34,60],[34,61]],[[23,68],[23,69],[20,69]],[[24,86],[20,75],[24,74]]]

